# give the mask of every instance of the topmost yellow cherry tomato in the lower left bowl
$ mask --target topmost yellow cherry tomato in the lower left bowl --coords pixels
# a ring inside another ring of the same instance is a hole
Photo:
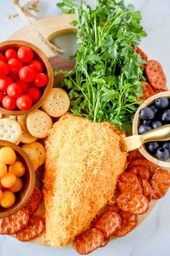
[[[16,154],[9,146],[0,149],[0,162],[5,165],[12,165],[16,161]]]

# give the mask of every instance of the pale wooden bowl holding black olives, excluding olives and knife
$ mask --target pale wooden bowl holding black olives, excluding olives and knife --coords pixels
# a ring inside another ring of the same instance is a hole
[[[137,135],[138,134],[138,127],[140,125],[140,117],[139,117],[140,110],[143,109],[143,107],[150,106],[150,104],[152,104],[159,97],[166,97],[166,98],[170,99],[170,91],[164,91],[164,92],[161,92],[159,94],[153,95],[150,98],[146,99],[145,102],[143,102],[143,104],[140,105],[140,107],[138,108],[138,110],[137,110],[137,112],[135,114],[134,120],[133,120],[133,125],[132,125],[133,135]],[[156,157],[153,157],[153,155],[151,155],[146,150],[145,145],[141,146],[139,151],[150,162],[153,162],[154,164],[156,164],[156,165],[158,165],[158,166],[160,166],[162,168],[170,168],[170,159],[167,160],[166,162],[158,160]]]

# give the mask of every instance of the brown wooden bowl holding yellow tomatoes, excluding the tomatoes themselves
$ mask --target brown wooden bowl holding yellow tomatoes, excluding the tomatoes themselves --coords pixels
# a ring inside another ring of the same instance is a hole
[[[26,171],[25,175],[22,176],[22,189],[15,194],[16,201],[14,205],[9,208],[3,208],[0,206],[0,218],[8,217],[20,210],[27,203],[28,199],[30,199],[35,186],[35,170],[33,169],[33,164],[29,157],[27,157],[27,154],[24,152],[24,150],[21,149],[20,146],[17,146],[9,141],[0,140],[0,149],[4,146],[9,146],[14,149],[14,152],[17,155],[17,159],[23,162]]]

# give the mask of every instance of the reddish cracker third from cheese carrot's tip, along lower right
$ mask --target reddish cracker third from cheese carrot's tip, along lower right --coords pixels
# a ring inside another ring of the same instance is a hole
[[[120,218],[122,220],[121,226],[114,231],[114,236],[125,236],[137,226],[138,217],[136,214],[129,212],[120,212]]]

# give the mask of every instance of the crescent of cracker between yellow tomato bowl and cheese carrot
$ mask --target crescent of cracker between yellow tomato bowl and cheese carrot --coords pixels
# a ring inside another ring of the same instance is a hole
[[[28,144],[27,147],[33,149],[35,154],[38,155],[39,166],[43,165],[46,159],[46,149],[44,148],[44,146],[40,142],[35,141],[33,143]]]

